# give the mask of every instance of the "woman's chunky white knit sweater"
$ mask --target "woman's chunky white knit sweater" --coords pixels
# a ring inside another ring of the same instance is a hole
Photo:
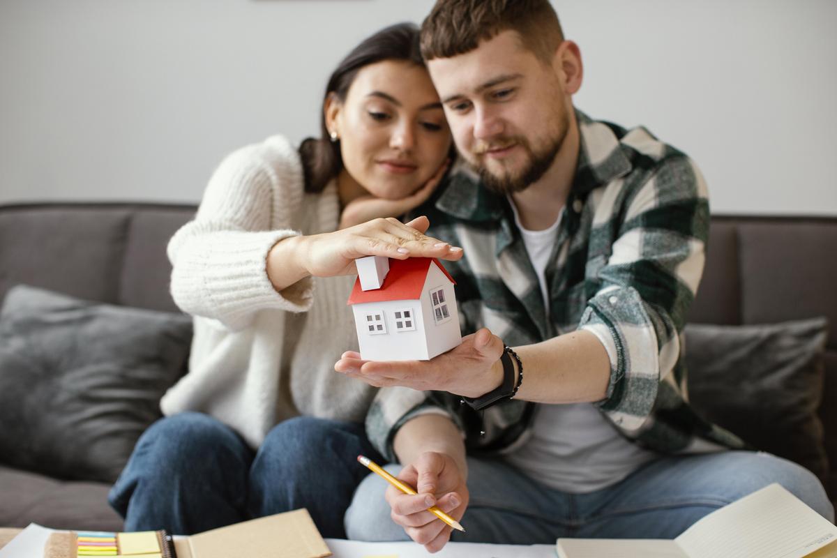
[[[218,166],[196,217],[168,244],[172,296],[195,319],[189,372],[162,398],[163,413],[208,413],[254,448],[298,414],[363,421],[376,390],[334,371],[342,351],[357,351],[347,306],[354,277],[303,279],[277,293],[266,271],[277,241],[334,231],[339,212],[336,182],[304,192],[284,137]],[[420,401],[419,392],[403,395],[398,412]]]

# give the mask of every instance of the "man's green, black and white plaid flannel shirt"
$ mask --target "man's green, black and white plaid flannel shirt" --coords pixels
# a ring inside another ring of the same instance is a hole
[[[458,166],[413,212],[429,217],[429,234],[465,249],[459,262],[444,262],[463,333],[485,326],[520,346],[588,330],[610,360],[607,395],[594,404],[626,438],[662,453],[744,447],[687,402],[682,332],[709,233],[701,172],[643,127],[576,115],[581,147],[546,269],[548,316],[505,196]],[[401,407],[374,404],[367,433],[390,459],[398,427],[426,412],[453,418],[469,451],[509,451],[526,440],[535,406],[510,400],[480,415],[449,393],[388,389],[402,394]],[[399,412],[410,397],[412,410]]]

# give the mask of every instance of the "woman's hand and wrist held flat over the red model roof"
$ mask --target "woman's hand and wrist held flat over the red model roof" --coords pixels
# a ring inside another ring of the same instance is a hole
[[[406,224],[396,218],[377,218],[333,233],[284,238],[270,248],[268,277],[281,291],[307,275],[355,274],[354,260],[364,256],[460,259],[462,248],[424,235],[429,226],[424,216]]]

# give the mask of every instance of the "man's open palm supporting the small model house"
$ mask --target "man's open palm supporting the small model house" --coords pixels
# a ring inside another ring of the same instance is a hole
[[[375,387],[403,386],[480,397],[501,385],[502,353],[500,337],[483,328],[429,361],[362,361],[359,353],[347,351],[334,369]]]

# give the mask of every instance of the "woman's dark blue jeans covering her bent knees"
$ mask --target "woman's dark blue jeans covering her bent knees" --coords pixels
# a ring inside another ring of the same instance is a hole
[[[108,499],[126,531],[192,535],[307,508],[323,536],[345,538],[343,514],[368,473],[358,453],[381,459],[360,424],[291,418],[254,452],[223,422],[184,412],[142,434]]]

